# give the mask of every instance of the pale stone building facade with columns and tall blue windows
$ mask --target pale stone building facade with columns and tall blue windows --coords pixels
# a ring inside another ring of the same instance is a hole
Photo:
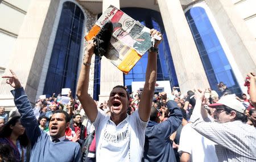
[[[246,92],[245,76],[256,71],[254,0],[2,0],[0,76],[13,69],[31,103],[61,88],[75,96],[84,36],[109,5],[163,33],[157,81],[179,86],[181,93],[194,87],[218,91],[219,82],[237,95]],[[132,89],[133,82],[144,81],[146,62],[147,54],[123,75],[106,58],[94,57],[90,94],[102,101],[116,85]],[[11,108],[11,88],[0,81],[0,105]]]

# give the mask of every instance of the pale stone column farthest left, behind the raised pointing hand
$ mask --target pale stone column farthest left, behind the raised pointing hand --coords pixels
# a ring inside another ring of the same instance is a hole
[[[7,66],[18,76],[31,103],[36,100],[43,61],[58,6],[59,1],[31,1]],[[4,75],[10,75],[10,71],[6,70]],[[5,84],[5,80],[1,81],[0,87],[0,95],[7,96],[6,102],[10,103],[13,99],[8,96],[13,88]]]

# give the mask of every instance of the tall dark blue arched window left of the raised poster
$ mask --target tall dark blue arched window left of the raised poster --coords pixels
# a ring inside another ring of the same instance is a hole
[[[61,88],[71,88],[75,95],[82,24],[84,24],[84,14],[79,6],[73,2],[63,3],[44,84],[45,95],[60,93]]]

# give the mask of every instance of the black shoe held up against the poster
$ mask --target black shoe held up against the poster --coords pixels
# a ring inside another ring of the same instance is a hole
[[[94,47],[94,53],[97,56],[104,56],[108,51],[110,39],[113,33],[113,24],[112,22],[106,22],[100,32],[96,35],[94,42],[96,42],[96,46]]]

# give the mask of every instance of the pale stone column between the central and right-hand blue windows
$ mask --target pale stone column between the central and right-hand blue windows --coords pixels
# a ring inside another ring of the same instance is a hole
[[[182,93],[209,83],[179,0],[158,0]]]

